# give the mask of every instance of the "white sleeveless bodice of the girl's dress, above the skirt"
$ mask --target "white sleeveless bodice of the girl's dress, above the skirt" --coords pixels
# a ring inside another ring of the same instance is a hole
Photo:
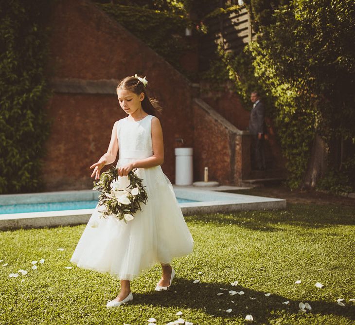
[[[139,121],[128,120],[127,117],[118,121],[119,158],[144,159],[153,155],[152,118],[153,115],[147,115]]]

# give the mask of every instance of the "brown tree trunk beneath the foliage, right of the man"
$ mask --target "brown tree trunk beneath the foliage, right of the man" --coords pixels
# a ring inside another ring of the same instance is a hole
[[[327,145],[318,134],[312,144],[311,158],[304,175],[302,188],[314,188],[327,169]]]

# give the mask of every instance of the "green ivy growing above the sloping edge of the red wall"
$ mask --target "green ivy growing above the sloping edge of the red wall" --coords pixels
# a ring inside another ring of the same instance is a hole
[[[137,10],[135,6],[98,5],[177,70],[181,70],[179,58],[189,48],[184,42],[185,28],[191,25],[189,19],[158,10]]]

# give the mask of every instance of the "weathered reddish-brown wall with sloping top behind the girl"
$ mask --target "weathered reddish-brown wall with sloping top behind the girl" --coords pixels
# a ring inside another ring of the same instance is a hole
[[[56,79],[147,76],[147,89],[164,109],[162,169],[174,182],[175,139],[183,138],[184,146],[193,144],[187,79],[89,1],[56,1],[51,22],[49,68],[54,68]],[[43,169],[47,190],[90,188],[89,166],[106,152],[113,123],[126,116],[120,109],[115,94],[54,93],[48,105],[53,126]]]

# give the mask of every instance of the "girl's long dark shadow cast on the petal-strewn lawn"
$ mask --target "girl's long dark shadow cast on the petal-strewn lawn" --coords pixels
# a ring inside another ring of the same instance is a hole
[[[228,290],[222,290],[220,288]],[[231,296],[229,290],[242,290],[245,294],[239,295],[237,293]],[[223,292],[223,295],[217,296],[219,292]],[[277,311],[281,312],[283,310],[288,315],[298,314],[299,317],[304,317],[304,315],[301,315],[299,312],[300,301],[290,300],[287,297],[275,294],[266,297],[265,293],[266,292],[255,291],[241,286],[232,287],[229,283],[199,282],[198,284],[194,284],[192,281],[177,279],[168,291],[153,291],[146,294],[133,293],[134,300],[130,304],[193,308],[202,310],[211,316],[226,319],[236,317],[243,317],[244,319],[247,314],[251,314],[256,323],[268,323],[272,319],[277,319],[279,317]],[[256,299],[251,300],[250,297]],[[234,303],[231,301],[234,301]],[[289,301],[289,304],[284,305],[283,302],[285,301]],[[303,303],[306,302],[312,307],[312,310],[307,311],[307,314],[333,314],[346,317],[349,320],[355,320],[354,306],[347,305],[340,307],[336,302],[303,301]],[[229,308],[232,309],[231,313],[225,311]]]

